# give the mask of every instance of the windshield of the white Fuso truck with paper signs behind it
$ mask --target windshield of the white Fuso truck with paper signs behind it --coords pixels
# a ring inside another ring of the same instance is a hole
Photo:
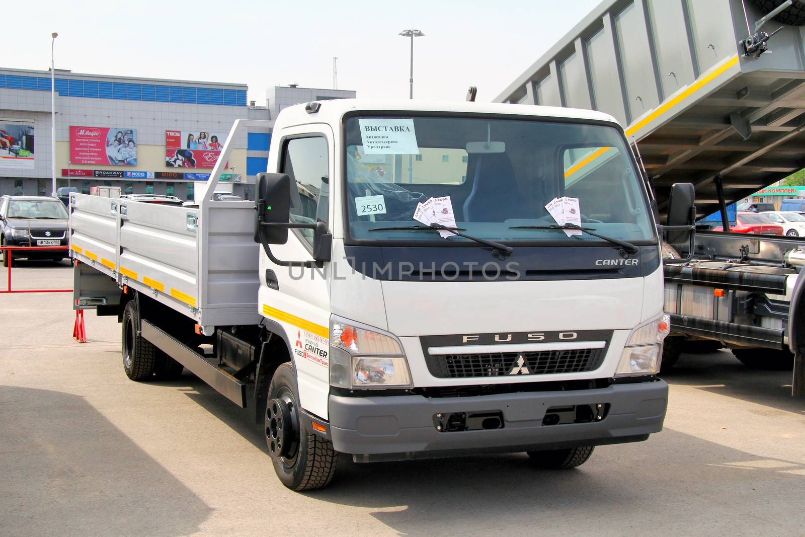
[[[345,127],[348,240],[473,244],[446,231],[378,230],[428,218],[513,246],[603,242],[539,229],[566,222],[629,242],[655,240],[631,152],[614,126],[372,115]],[[551,202],[558,207],[549,212]],[[415,219],[418,208],[431,212]]]

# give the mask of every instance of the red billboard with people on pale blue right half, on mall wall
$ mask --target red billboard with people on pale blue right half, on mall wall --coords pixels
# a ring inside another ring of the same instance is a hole
[[[137,166],[137,129],[70,126],[70,162]]]

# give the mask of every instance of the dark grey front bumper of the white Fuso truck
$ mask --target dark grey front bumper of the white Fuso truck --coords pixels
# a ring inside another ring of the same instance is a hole
[[[330,394],[329,425],[336,451],[353,453],[358,461],[535,451],[646,440],[662,430],[667,399],[668,385],[662,380],[593,390],[452,398]],[[543,425],[551,407],[597,403],[609,405],[601,421]],[[484,411],[502,412],[502,428],[436,430],[438,413]]]

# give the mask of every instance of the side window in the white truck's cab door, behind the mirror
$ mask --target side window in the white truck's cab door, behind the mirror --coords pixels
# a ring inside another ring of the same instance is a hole
[[[291,222],[328,223],[329,166],[327,139],[323,136],[292,138],[285,144],[282,172],[291,178]],[[313,230],[299,229],[313,244]]]

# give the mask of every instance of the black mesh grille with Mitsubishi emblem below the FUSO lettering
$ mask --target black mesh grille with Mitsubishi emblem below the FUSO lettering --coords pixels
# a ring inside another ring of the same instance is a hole
[[[519,357],[528,373],[583,373],[601,366],[605,349],[543,350],[533,353],[444,354],[427,357],[428,370],[436,378],[502,377],[513,374]],[[518,374],[526,371],[518,366]]]

